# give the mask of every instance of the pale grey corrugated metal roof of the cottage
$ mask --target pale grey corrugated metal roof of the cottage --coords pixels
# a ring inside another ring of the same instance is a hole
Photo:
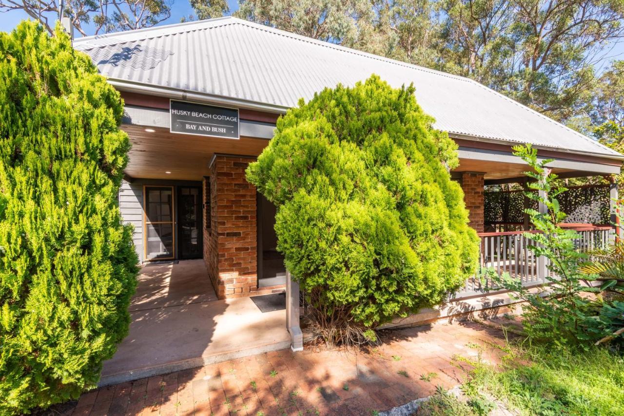
[[[110,79],[278,107],[378,74],[414,83],[422,109],[449,134],[620,156],[471,79],[222,17],[83,37],[74,47]]]

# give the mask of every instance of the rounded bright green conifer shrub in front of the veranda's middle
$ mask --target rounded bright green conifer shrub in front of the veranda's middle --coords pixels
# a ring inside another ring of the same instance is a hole
[[[477,235],[448,171],[457,147],[432,122],[414,87],[373,76],[301,101],[248,168],[330,342],[437,304],[475,270]]]

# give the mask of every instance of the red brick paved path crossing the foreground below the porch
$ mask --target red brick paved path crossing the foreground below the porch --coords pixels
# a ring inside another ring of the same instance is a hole
[[[394,330],[383,341],[368,353],[283,350],[103,387],[66,415],[373,415],[454,387],[465,373],[453,357],[495,362],[492,342],[503,344],[472,322]]]

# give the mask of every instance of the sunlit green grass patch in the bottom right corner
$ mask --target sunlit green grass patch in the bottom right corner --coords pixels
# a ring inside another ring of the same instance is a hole
[[[522,345],[505,349],[498,369],[475,369],[462,390],[487,392],[523,415],[622,415],[624,357],[595,347],[588,351]]]

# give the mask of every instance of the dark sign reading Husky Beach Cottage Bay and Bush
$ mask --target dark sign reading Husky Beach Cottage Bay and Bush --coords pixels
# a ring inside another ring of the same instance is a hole
[[[172,133],[238,139],[238,109],[169,101]]]

